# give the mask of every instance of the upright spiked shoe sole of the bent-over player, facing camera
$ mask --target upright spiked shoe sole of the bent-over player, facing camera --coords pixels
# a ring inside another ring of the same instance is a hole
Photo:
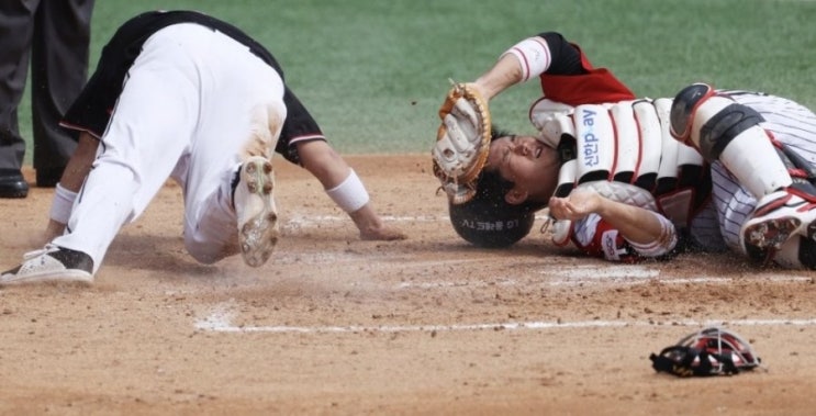
[[[266,263],[278,243],[273,188],[275,175],[269,159],[253,156],[244,161],[233,201],[238,217],[241,254],[250,267]]]

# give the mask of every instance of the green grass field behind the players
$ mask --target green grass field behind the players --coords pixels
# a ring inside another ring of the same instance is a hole
[[[91,67],[122,22],[156,8],[203,11],[265,44],[343,153],[429,151],[448,78],[472,80],[508,46],[548,30],[638,95],[671,97],[704,80],[816,109],[816,1],[101,0]],[[493,120],[532,132],[527,108],[537,94],[528,82],[499,95]],[[21,127],[30,137],[25,100]]]

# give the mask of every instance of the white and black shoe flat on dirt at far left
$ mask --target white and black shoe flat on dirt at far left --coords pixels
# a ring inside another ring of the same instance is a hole
[[[85,283],[93,282],[93,260],[82,251],[53,244],[42,250],[26,252],[23,262],[0,274],[0,285],[27,283]]]

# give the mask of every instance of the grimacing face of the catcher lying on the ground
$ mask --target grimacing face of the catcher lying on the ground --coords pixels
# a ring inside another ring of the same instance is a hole
[[[515,185],[506,196],[510,203],[527,199],[547,201],[558,178],[554,149],[533,136],[504,136],[490,144],[489,169]]]

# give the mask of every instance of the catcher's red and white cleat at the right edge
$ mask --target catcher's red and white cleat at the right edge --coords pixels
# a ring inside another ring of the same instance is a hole
[[[740,243],[749,252],[756,249],[774,252],[793,235],[816,237],[814,231],[816,204],[787,191],[778,191],[759,200],[753,217],[742,224]]]

